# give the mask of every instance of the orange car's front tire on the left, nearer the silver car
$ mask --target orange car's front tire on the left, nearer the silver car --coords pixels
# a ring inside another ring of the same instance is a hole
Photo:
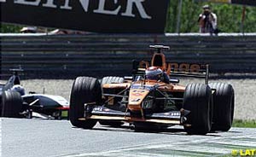
[[[69,119],[72,125],[91,129],[96,125],[96,119],[84,118],[84,104],[96,102],[99,104],[102,100],[102,88],[98,79],[89,77],[79,77],[73,83],[70,96]]]

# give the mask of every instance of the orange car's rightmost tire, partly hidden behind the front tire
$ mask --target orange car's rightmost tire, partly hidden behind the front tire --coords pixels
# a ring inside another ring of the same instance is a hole
[[[212,131],[229,131],[234,118],[235,94],[232,85],[211,83],[213,95]]]

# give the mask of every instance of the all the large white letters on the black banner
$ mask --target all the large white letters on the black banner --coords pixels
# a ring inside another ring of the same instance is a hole
[[[63,1],[63,0],[62,0]],[[65,4],[60,6],[60,9],[73,9],[73,7],[69,6],[69,0],[64,0]],[[89,5],[91,1],[96,1],[96,0],[79,0],[79,2],[82,5],[82,8],[84,9],[84,12],[88,12],[89,10]],[[143,2],[145,0],[127,0],[126,6],[115,6],[114,9],[105,9],[105,4],[106,0],[98,0],[99,5],[97,9],[94,9],[94,13],[98,14],[103,14],[103,15],[118,15],[121,7],[126,7],[125,8],[125,13],[121,13],[122,16],[128,16],[128,17],[135,17],[136,15],[134,14],[135,8],[137,8],[137,11],[139,12],[139,15],[143,19],[152,19],[151,16],[147,15],[144,7],[143,7]],[[6,0],[0,0],[0,3],[5,3]],[[40,4],[41,0],[14,0],[14,3],[17,4],[23,4],[23,5],[32,5],[32,6],[38,6]],[[58,6],[54,3],[55,0],[47,0],[46,3],[43,3],[43,7],[47,8],[57,8]],[[114,4],[117,4],[119,0],[113,0]]]

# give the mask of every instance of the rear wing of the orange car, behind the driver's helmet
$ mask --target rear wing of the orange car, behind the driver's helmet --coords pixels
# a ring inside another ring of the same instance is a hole
[[[144,75],[149,67],[150,61],[133,61],[132,74]],[[192,77],[205,78],[206,84],[209,80],[209,65],[196,63],[166,62],[166,73],[170,77]]]

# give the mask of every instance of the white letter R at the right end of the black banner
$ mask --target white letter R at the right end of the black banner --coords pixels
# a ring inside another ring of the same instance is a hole
[[[146,11],[143,7],[143,4],[142,4],[143,2],[144,2],[144,0],[128,0],[126,11],[122,15],[135,17],[135,15],[132,14],[133,4],[135,3],[136,6],[137,6],[137,9],[138,9],[138,11],[139,11],[139,13],[140,13],[140,15],[142,16],[143,19],[152,19],[152,17],[147,15],[147,13],[146,13]]]

